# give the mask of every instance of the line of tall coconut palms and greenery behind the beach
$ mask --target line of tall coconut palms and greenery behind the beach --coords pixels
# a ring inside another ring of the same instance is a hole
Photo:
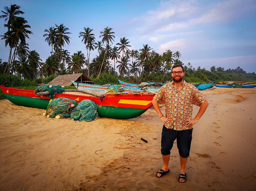
[[[77,51],[71,55],[68,50],[64,49],[70,43],[71,38],[68,35],[71,32],[63,23],[54,24],[54,26],[44,30],[43,37],[51,48],[51,55],[43,62],[36,50],[29,50],[26,40],[33,32],[30,31],[27,20],[20,17],[24,14],[20,10],[20,6],[11,4],[10,7],[4,7],[1,12],[3,14],[0,18],[5,20],[4,27],[7,28],[7,31],[1,35],[1,39],[4,40],[5,46],[9,47],[10,51],[8,61],[2,62],[0,59],[0,73],[15,74],[23,79],[33,81],[40,76],[81,72],[87,74],[89,78],[99,78],[104,72],[120,78],[129,78],[132,81],[135,79],[147,81],[152,74],[156,73],[161,74],[163,79],[165,76],[170,77],[173,64],[183,64],[179,60],[181,57],[179,51],[166,50],[163,54],[159,54],[148,44],[143,44],[139,50],[130,50],[131,45],[126,37],[122,37],[119,42],[114,43],[115,32],[110,27],[100,31],[99,40],[95,39],[93,29],[84,27],[78,37],[81,38],[81,42],[85,46],[86,56],[82,51]],[[97,51],[97,56],[90,61],[92,51]],[[183,64],[183,66],[185,72],[189,74],[188,77],[192,77],[192,74],[196,74],[200,70],[201,72],[206,71],[200,66],[195,69],[190,62]],[[222,67],[216,68],[215,66],[212,66],[208,72],[212,74],[216,72],[246,73],[240,67],[224,70]],[[255,75],[255,73],[252,74]],[[201,80],[205,79],[202,78]]]

